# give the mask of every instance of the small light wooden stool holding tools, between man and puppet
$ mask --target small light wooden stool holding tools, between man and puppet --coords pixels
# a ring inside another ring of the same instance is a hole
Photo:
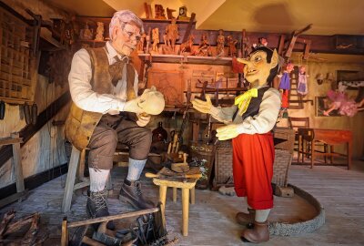
[[[199,172],[198,168],[191,168],[192,173]],[[157,174],[158,176],[158,174]],[[195,186],[197,179],[163,179],[153,178],[153,183],[159,186],[159,201],[161,203],[162,218],[165,220],[167,188],[173,188],[173,201],[177,201],[177,188],[182,190],[182,235],[188,235],[188,210],[189,210],[189,191],[191,191],[191,204],[195,204]]]

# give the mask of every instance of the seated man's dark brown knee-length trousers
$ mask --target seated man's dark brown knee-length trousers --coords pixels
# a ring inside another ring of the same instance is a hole
[[[87,146],[90,149],[89,168],[112,169],[117,142],[129,148],[131,159],[147,159],[152,143],[152,132],[148,128],[137,126],[135,118],[128,115],[107,114],[101,118]]]

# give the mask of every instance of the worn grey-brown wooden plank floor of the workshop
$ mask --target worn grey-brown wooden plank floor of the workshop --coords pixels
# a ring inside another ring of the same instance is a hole
[[[326,224],[319,231],[295,237],[272,236],[267,243],[260,245],[364,245],[364,162],[355,161],[353,170],[344,167],[293,165],[289,172],[289,183],[308,191],[316,197],[326,210]],[[109,199],[112,214],[131,211],[126,203],[117,200],[125,168],[113,170],[115,194]],[[61,213],[63,186],[66,176],[54,179],[43,186],[31,190],[27,200],[14,203],[3,210],[14,209],[17,216],[35,211],[41,214],[41,229],[49,231],[50,239],[45,245],[57,245],[60,225],[65,214]],[[151,180],[144,179],[144,192],[157,201],[157,188]],[[239,210],[246,210],[244,200],[227,197],[210,190],[197,190],[197,202],[190,206],[189,235],[183,237],[181,231],[180,192],[177,203],[171,200],[172,190],[167,193],[167,231],[169,238],[179,238],[178,245],[249,245],[239,240],[243,230],[235,220]],[[86,218],[86,195],[74,196],[69,220]],[[298,197],[295,199],[275,198],[275,209],[269,220],[305,220],[312,216],[312,208]]]

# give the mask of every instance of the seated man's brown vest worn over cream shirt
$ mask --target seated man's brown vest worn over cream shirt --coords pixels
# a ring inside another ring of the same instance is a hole
[[[126,95],[127,99],[136,97],[134,91],[135,70],[134,67],[125,62],[118,61],[109,66],[106,55],[106,47],[86,49],[91,58],[93,70],[90,84],[92,90],[98,94],[111,94],[113,82],[117,82],[122,75],[123,67],[126,66]],[[77,149],[86,149],[96,125],[103,114],[90,112],[78,108],[72,103],[71,110],[66,118],[65,136]]]

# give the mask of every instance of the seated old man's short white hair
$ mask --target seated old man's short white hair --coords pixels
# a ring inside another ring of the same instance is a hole
[[[130,24],[131,22],[134,22],[136,26],[140,27],[140,33],[144,34],[144,27],[143,27],[143,21],[139,19],[136,14],[131,12],[130,10],[120,10],[117,11],[114,16],[111,18],[110,25],[108,27],[109,36],[110,39],[113,39],[113,29],[118,26],[120,28],[124,28],[126,24]]]

